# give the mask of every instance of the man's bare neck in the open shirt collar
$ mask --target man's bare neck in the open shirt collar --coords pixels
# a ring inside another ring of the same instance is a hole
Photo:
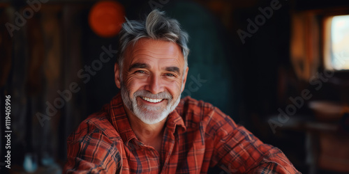
[[[126,107],[125,110],[131,128],[133,129],[133,132],[135,132],[135,135],[138,137],[138,139],[145,145],[152,146],[156,151],[160,153],[161,143],[163,140],[163,128],[165,127],[166,119],[163,119],[161,120],[161,122],[157,122],[153,125],[147,125]]]

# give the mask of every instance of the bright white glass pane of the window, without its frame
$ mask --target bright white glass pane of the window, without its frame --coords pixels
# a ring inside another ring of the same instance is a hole
[[[349,15],[332,18],[331,63],[334,70],[349,70]]]

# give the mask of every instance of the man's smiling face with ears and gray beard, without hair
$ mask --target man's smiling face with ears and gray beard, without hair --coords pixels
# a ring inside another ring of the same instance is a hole
[[[187,73],[177,44],[142,38],[126,49],[121,70],[115,65],[115,83],[126,108],[152,125],[175,109]]]

